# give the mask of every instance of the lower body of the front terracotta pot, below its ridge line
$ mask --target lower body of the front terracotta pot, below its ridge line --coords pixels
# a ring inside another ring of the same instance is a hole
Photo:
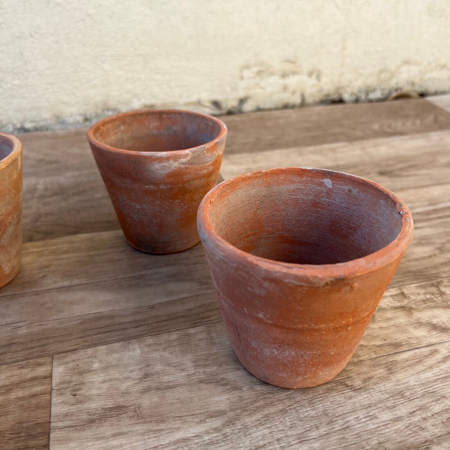
[[[371,314],[337,327],[280,327],[229,307],[220,309],[234,353],[255,377],[289,389],[327,383],[353,356]]]

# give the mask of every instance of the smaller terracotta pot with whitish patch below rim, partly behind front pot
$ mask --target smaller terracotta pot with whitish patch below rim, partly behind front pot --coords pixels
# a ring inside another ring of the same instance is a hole
[[[126,240],[149,253],[200,242],[196,216],[216,184],[227,130],[215,117],[133,111],[99,121],[88,140]]]

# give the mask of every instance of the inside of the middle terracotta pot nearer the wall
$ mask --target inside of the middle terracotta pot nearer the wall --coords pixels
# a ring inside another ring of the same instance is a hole
[[[220,130],[208,116],[184,111],[136,111],[99,122],[94,137],[122,150],[170,152],[207,144]]]

